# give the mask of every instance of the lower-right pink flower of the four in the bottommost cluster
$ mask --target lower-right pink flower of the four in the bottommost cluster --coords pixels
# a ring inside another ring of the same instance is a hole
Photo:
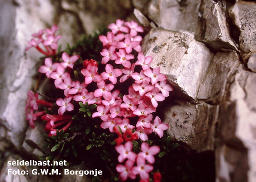
[[[149,172],[153,170],[152,165],[146,164],[145,158],[137,157],[137,166],[133,167],[133,173],[139,174],[142,180],[149,180]]]

